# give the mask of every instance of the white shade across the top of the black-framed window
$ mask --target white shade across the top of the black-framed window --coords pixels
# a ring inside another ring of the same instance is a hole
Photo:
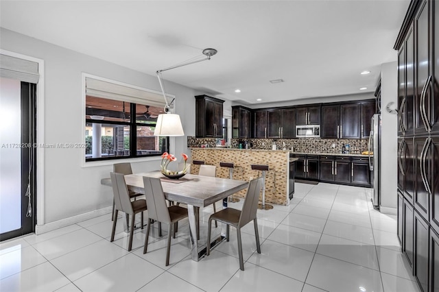
[[[165,106],[165,99],[161,94],[96,80],[91,77],[86,77],[86,95],[128,101],[145,106]]]

